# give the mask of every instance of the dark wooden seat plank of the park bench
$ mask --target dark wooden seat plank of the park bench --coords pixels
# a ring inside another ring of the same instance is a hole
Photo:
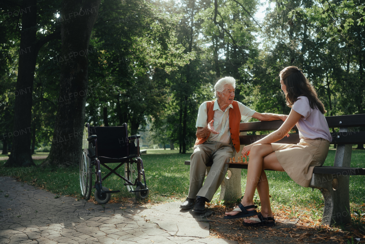
[[[207,167],[212,166],[213,162],[208,162]],[[185,165],[190,165],[190,161],[185,161]],[[230,168],[234,169],[247,169],[247,164],[230,164]],[[275,171],[273,169],[265,169]],[[314,167],[313,173],[315,174],[336,174],[337,176],[343,175],[365,175],[365,168],[351,168],[351,167],[333,167],[333,166],[322,166]]]

